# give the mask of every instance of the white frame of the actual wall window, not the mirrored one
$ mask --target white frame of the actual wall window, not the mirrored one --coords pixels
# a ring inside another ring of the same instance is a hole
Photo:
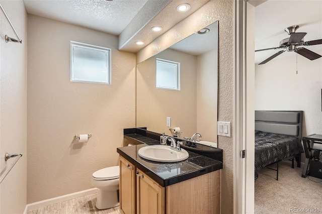
[[[96,50],[96,51],[102,51],[106,52],[107,54],[107,81],[91,81],[91,80],[81,80],[81,79],[76,79],[73,77],[74,70],[73,70],[73,47],[82,47],[82,48],[87,48],[91,50]],[[89,83],[102,83],[102,84],[111,84],[112,83],[112,71],[111,71],[111,55],[112,55],[112,49],[111,48],[106,48],[106,47],[101,47],[101,46],[96,46],[96,45],[90,45],[86,43],[81,43],[81,42],[75,42],[75,41],[70,41],[70,81],[72,82],[89,82]]]

